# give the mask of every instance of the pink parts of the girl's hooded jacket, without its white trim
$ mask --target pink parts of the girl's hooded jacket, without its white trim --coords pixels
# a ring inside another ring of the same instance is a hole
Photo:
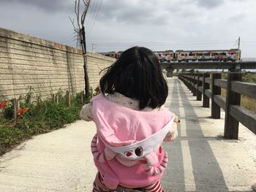
[[[97,153],[105,153],[106,145],[126,146],[151,137],[175,117],[175,114],[166,108],[152,112],[131,110],[105,99],[102,93],[91,99],[91,102],[92,115],[97,126],[97,137],[94,137],[92,145],[95,144]],[[154,154],[157,157],[155,167],[166,161],[167,157],[161,146],[154,150]],[[98,158],[94,156],[94,164],[102,174],[108,188],[114,189],[117,185],[129,188],[143,187],[162,177],[162,171],[152,175],[145,172],[145,167],[143,167],[145,159],[144,161],[132,161],[121,157],[121,155],[113,155],[108,158],[108,161],[105,156],[104,160],[106,161],[101,161],[99,155],[97,156]]]

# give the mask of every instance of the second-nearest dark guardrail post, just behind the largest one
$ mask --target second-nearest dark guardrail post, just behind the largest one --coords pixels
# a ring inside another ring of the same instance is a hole
[[[220,118],[220,107],[219,105],[214,102],[214,95],[220,95],[221,94],[221,88],[214,85],[215,79],[221,79],[222,74],[220,73],[213,73],[211,74],[211,118],[219,119]]]

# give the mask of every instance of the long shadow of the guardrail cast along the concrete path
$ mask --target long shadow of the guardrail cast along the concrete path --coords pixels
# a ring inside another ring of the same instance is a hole
[[[214,137],[204,137],[195,110],[187,97],[187,88],[178,79],[170,81],[174,82],[169,84],[173,86],[170,88],[169,109],[181,115],[181,128],[178,127],[179,137],[175,142],[165,143],[165,150],[169,154],[167,171],[162,177],[165,191],[228,191],[222,169],[208,143]],[[179,107],[184,109],[183,114],[180,114]],[[182,126],[186,126],[187,137],[181,136]]]

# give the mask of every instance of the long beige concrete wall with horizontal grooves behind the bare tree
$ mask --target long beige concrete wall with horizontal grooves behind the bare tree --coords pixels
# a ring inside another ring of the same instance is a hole
[[[115,59],[88,53],[89,82],[99,84],[99,72]],[[35,96],[83,91],[81,50],[0,28],[0,97],[18,98],[34,88]]]

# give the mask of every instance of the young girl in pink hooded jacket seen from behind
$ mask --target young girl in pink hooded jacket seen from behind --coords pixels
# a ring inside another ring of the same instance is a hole
[[[97,126],[91,142],[98,169],[93,191],[118,185],[163,191],[167,153],[162,141],[178,134],[176,116],[163,107],[168,88],[157,56],[145,47],[132,47],[107,69],[99,82],[102,93],[80,112]]]

